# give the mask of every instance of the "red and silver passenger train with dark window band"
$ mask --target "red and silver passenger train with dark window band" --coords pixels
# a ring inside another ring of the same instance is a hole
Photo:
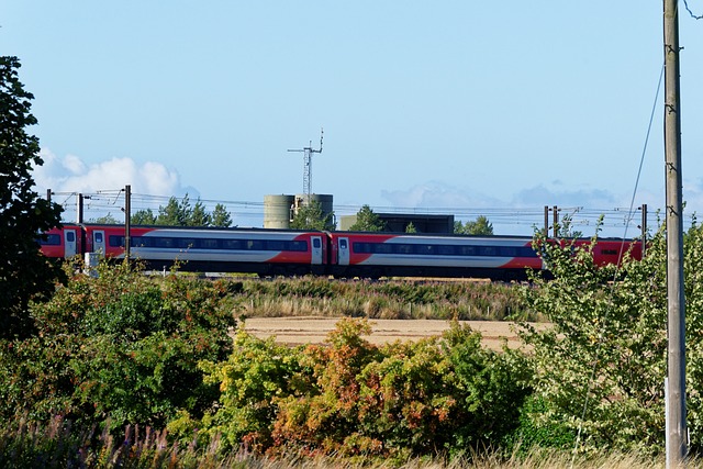
[[[71,225],[41,242],[48,257],[100,253],[123,258],[124,225]],[[133,226],[131,257],[148,269],[179,263],[181,270],[254,272],[259,276],[328,275],[339,278],[455,277],[522,280],[545,266],[525,236],[458,236],[266,228]],[[579,239],[577,245],[589,244]],[[624,253],[639,259],[637,241],[602,238],[594,261],[615,264]]]

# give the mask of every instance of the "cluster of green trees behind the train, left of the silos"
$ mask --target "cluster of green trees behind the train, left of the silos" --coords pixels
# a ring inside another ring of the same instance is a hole
[[[209,213],[200,199],[191,205],[188,194],[180,200],[171,197],[166,205],[158,208],[158,215],[154,214],[152,209],[145,209],[134,212],[130,220],[135,225],[214,227],[232,225],[232,216],[226,206],[217,203],[212,213]]]

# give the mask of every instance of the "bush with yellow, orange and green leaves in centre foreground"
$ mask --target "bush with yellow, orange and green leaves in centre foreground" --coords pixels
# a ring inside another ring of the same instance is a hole
[[[401,460],[483,448],[517,426],[531,391],[520,354],[486,350],[458,324],[380,348],[362,338],[369,332],[365,320],[343,320],[324,345],[293,349],[239,332],[226,364],[205,365],[220,405],[183,427],[269,455]]]

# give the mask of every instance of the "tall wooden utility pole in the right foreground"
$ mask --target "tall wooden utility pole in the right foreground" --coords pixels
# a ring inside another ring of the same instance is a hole
[[[665,174],[667,187],[667,468],[687,457],[685,299],[683,294],[683,197],[678,0],[663,0]]]

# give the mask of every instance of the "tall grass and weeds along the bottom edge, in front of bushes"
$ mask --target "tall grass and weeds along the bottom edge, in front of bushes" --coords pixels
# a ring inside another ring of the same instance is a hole
[[[104,425],[105,427],[108,425]],[[280,459],[255,456],[244,450],[223,455],[215,438],[207,447],[198,447],[196,438],[188,446],[169,444],[166,431],[127,426],[115,438],[97,426],[74,428],[55,417],[46,425],[24,421],[0,429],[0,467],[13,469],[94,468],[94,469],[224,469],[224,468],[306,468],[306,469],[649,469],[663,467],[662,457],[638,454],[601,453],[573,458],[569,451],[534,449],[513,455],[487,451],[451,460],[416,458],[406,461],[311,458],[288,455]],[[689,468],[703,468],[698,459]]]

